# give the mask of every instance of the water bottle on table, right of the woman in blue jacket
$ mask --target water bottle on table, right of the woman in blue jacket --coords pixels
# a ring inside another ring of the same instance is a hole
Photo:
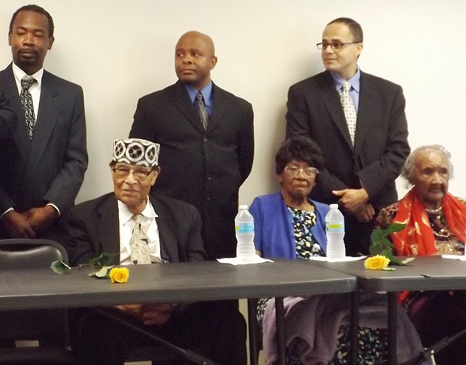
[[[327,232],[327,258],[328,261],[344,259],[346,257],[345,244],[345,220],[338,204],[330,204],[330,211],[326,216]]]

